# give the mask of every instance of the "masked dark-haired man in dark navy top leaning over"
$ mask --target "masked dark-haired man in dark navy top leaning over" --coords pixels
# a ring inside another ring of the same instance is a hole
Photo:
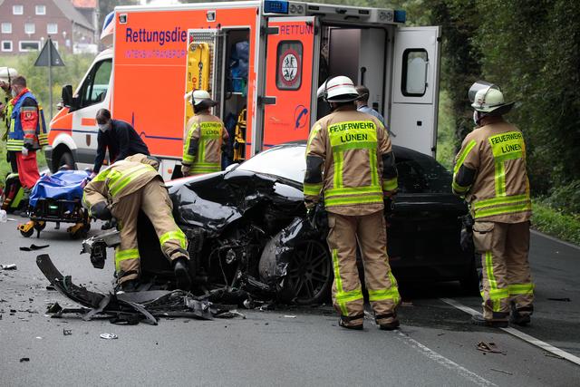
[[[111,111],[106,109],[97,111],[96,119],[99,134],[97,135],[97,157],[92,167],[93,175],[101,170],[107,150],[109,150],[111,162],[125,160],[128,156],[137,153],[149,156],[147,145],[129,123],[111,120]]]

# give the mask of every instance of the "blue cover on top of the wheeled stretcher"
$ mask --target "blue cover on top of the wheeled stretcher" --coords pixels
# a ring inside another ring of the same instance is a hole
[[[89,173],[83,170],[60,170],[53,175],[43,175],[30,193],[30,206],[36,207],[41,198],[81,200],[82,189]]]

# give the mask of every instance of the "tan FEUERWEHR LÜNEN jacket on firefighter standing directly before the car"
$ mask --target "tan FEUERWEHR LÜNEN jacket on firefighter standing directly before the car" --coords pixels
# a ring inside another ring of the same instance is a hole
[[[313,179],[321,167],[323,175]],[[306,169],[304,199],[316,202],[322,193],[324,207],[337,214],[372,214],[384,207],[383,192],[397,189],[389,135],[376,117],[354,106],[338,108],[314,123]]]

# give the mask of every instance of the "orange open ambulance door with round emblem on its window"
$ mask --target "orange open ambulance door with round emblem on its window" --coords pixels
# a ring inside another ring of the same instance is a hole
[[[265,95],[258,97],[258,105],[264,108],[264,125],[256,151],[308,138],[313,77],[317,75],[314,25],[314,17],[268,20]]]

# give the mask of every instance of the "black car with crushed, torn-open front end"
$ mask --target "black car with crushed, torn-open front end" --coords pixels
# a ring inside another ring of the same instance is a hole
[[[465,203],[450,192],[437,161],[393,147],[399,194],[389,203],[388,252],[395,276],[471,280],[473,255],[459,246]],[[246,292],[312,304],[333,280],[325,230],[306,219],[302,181],[305,144],[276,146],[226,171],[169,183],[174,218],[189,239],[198,291]],[[169,271],[147,218],[140,218],[144,272]]]

